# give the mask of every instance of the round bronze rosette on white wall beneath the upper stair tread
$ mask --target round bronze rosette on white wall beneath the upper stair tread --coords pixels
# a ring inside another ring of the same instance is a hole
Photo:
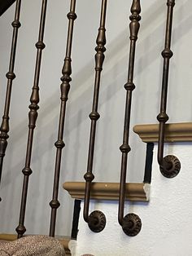
[[[166,161],[167,163],[171,163],[169,168],[166,168],[165,166],[160,166],[160,172],[161,174],[164,175],[164,177],[168,178],[168,179],[172,179],[174,177],[177,176],[177,174],[179,174],[180,170],[181,170],[181,162],[179,161],[179,159],[175,156],[172,155],[168,155],[166,157],[164,157],[164,161]]]

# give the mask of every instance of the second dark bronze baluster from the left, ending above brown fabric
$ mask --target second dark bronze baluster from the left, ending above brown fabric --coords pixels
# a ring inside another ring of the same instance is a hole
[[[42,0],[41,6],[41,20],[40,20],[40,29],[39,29],[39,37],[38,42],[36,43],[37,48],[37,58],[36,58],[36,67],[35,67],[35,75],[34,75],[34,83],[32,95],[30,98],[31,104],[29,105],[29,113],[28,113],[28,144],[25,158],[25,166],[22,170],[24,174],[24,183],[23,183],[23,191],[21,197],[21,205],[20,205],[20,221],[19,226],[16,227],[16,232],[18,233],[18,238],[24,235],[26,228],[24,227],[24,217],[25,217],[25,209],[26,209],[26,201],[28,194],[28,178],[29,175],[32,174],[31,170],[31,157],[32,157],[32,148],[33,148],[33,133],[36,126],[37,121],[37,110],[39,108],[39,77],[41,71],[41,54],[42,50],[45,48],[45,44],[43,42],[45,23],[46,23],[46,6],[47,0]]]

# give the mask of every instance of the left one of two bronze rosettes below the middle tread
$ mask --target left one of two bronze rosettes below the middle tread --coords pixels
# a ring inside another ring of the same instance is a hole
[[[94,210],[89,214],[88,226],[93,232],[102,232],[106,226],[106,217],[100,210]]]

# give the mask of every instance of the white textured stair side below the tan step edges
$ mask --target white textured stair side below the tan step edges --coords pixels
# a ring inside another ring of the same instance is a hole
[[[155,146],[155,154],[157,147]],[[107,224],[103,232],[94,233],[82,220],[77,242],[71,241],[72,255],[94,256],[190,256],[192,251],[192,169],[190,143],[177,143],[165,148],[181,161],[181,172],[174,179],[160,174],[157,161],[152,168],[149,203],[126,203],[124,214],[137,214],[142,230],[137,236],[126,236],[117,221],[117,201],[92,202],[91,210],[102,210]],[[83,207],[83,205],[82,205]]]

